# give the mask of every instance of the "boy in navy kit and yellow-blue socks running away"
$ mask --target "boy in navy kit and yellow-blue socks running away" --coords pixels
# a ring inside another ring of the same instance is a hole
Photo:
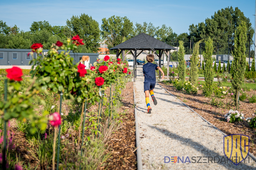
[[[154,55],[153,54],[148,54],[146,56],[146,60],[148,61],[148,63],[143,65],[143,75],[145,77],[144,79],[144,92],[145,92],[145,97],[146,97],[146,104],[148,107],[148,114],[151,114],[151,107],[149,104],[149,93],[152,97],[152,100],[154,102],[154,104],[157,104],[157,101],[155,99],[154,96],[154,88],[155,88],[155,70],[160,70],[161,73],[163,74],[162,76],[162,80],[165,77],[165,74],[163,72],[163,70],[156,64],[153,64],[152,62],[154,61]]]

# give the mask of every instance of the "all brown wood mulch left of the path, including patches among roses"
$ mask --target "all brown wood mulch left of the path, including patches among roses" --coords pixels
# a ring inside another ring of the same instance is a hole
[[[106,96],[109,96],[109,88],[105,91]],[[137,155],[136,155],[136,136],[135,136],[135,116],[134,116],[134,107],[133,107],[133,82],[128,82],[126,84],[126,88],[122,90],[122,106],[117,111],[119,114],[125,113],[124,115],[120,115],[120,121],[122,123],[119,124],[117,131],[113,132],[111,139],[107,141],[107,150],[106,154],[111,154],[110,158],[108,158],[105,162],[101,162],[99,165],[101,166],[99,169],[137,169]],[[41,108],[42,109],[42,108]],[[96,111],[98,109],[97,104],[91,106],[88,111]],[[102,111],[106,109],[106,106],[103,106]],[[66,104],[66,101],[62,103],[62,111],[64,114],[70,110],[69,106]],[[14,120],[15,121],[15,120]],[[119,120],[117,120],[119,121]],[[88,121],[86,120],[86,123]],[[52,129],[52,128],[51,128]],[[25,164],[30,163],[30,166],[36,167],[38,164],[38,160],[35,160],[31,153],[28,151],[28,148],[33,148],[27,140],[25,133],[20,132],[16,123],[11,123],[9,127],[11,132],[14,132],[14,144],[16,146],[16,153],[20,155],[21,160],[25,162]],[[48,134],[49,130],[47,129],[46,133]],[[52,132],[52,130],[51,130]],[[74,135],[77,136],[78,132],[74,131]],[[85,131],[85,135],[89,135],[90,132],[88,130]],[[72,139],[70,139],[72,140]],[[51,166],[51,165],[50,165]],[[39,169],[43,169],[42,167],[38,167]]]

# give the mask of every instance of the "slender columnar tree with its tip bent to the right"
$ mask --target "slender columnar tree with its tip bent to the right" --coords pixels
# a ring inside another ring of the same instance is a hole
[[[193,53],[192,56],[190,57],[190,74],[189,74],[189,81],[192,84],[196,84],[197,83],[197,79],[198,79],[198,67],[197,64],[199,62],[198,59],[198,54],[199,54],[199,45],[202,42],[202,40],[199,40],[193,48]]]

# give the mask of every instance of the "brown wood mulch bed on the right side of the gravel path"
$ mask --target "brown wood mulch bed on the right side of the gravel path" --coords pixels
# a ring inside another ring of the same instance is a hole
[[[166,90],[171,92],[174,96],[178,97],[182,102],[186,103],[190,108],[204,117],[207,121],[211,122],[217,128],[219,128],[222,132],[226,134],[244,134],[250,136],[250,153],[254,156],[256,155],[256,130],[251,129],[247,123],[247,121],[240,121],[234,123],[226,122],[224,115],[228,113],[230,109],[235,110],[235,106],[233,104],[233,99],[231,97],[226,97],[221,100],[224,105],[223,106],[213,106],[211,105],[212,97],[204,97],[202,94],[202,90],[198,90],[196,95],[186,94],[183,91],[176,90],[172,84],[165,85],[162,82],[159,82]],[[248,91],[245,92],[248,96],[256,94],[256,91]],[[256,104],[249,103],[246,99],[244,101],[240,101],[240,112],[244,114],[244,117],[253,117],[252,114],[255,112]]]

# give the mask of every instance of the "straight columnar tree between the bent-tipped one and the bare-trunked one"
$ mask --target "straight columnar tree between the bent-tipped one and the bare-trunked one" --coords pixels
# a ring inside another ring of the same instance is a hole
[[[211,38],[208,38],[205,43],[205,50],[203,52],[204,61],[205,61],[205,69],[204,69],[204,87],[203,93],[206,97],[210,97],[213,92],[213,74],[214,70],[212,68],[213,58],[213,41]]]

